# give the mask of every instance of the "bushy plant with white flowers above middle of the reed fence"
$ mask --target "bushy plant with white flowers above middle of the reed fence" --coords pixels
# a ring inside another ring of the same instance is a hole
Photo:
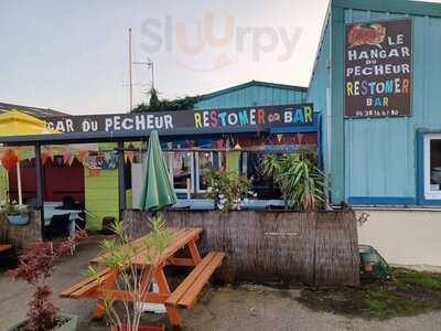
[[[250,191],[250,181],[233,171],[211,171],[206,181],[208,183],[206,195],[213,199],[215,207],[223,212],[240,210],[240,204],[247,196],[256,196],[256,193]]]

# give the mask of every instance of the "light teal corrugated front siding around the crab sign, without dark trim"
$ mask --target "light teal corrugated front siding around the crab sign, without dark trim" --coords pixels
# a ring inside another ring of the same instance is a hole
[[[346,23],[402,17],[345,10]],[[416,196],[416,130],[441,129],[440,40],[441,19],[413,17],[411,117],[345,120],[346,200],[349,196]],[[337,94],[343,96],[343,84],[338,89]]]

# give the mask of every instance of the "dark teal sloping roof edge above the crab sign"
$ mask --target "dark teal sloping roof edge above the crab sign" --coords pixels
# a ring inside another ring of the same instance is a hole
[[[332,6],[344,9],[368,10],[409,15],[441,18],[441,3],[410,0],[332,0]]]

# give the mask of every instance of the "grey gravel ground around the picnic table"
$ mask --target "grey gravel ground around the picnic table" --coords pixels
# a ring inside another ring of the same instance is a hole
[[[74,257],[65,258],[51,278],[54,292],[79,280],[87,263],[98,253],[94,241],[83,243]],[[184,330],[357,330],[357,331],[406,331],[441,330],[441,312],[387,321],[349,319],[324,312],[314,312],[297,302],[299,290],[281,290],[263,286],[241,285],[238,287],[208,287],[193,310],[182,311]],[[30,287],[13,282],[0,275],[0,330],[23,318]],[[77,330],[107,330],[104,321],[93,321],[93,300],[56,298],[62,311],[79,316]],[[166,316],[143,317],[146,324],[168,324]]]

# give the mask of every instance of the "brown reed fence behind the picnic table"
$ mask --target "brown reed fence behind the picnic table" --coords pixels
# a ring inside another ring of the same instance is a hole
[[[359,284],[357,227],[352,211],[168,211],[170,227],[203,227],[200,249],[226,253],[225,281],[283,280],[330,286]],[[132,237],[149,232],[148,214],[125,211]]]

